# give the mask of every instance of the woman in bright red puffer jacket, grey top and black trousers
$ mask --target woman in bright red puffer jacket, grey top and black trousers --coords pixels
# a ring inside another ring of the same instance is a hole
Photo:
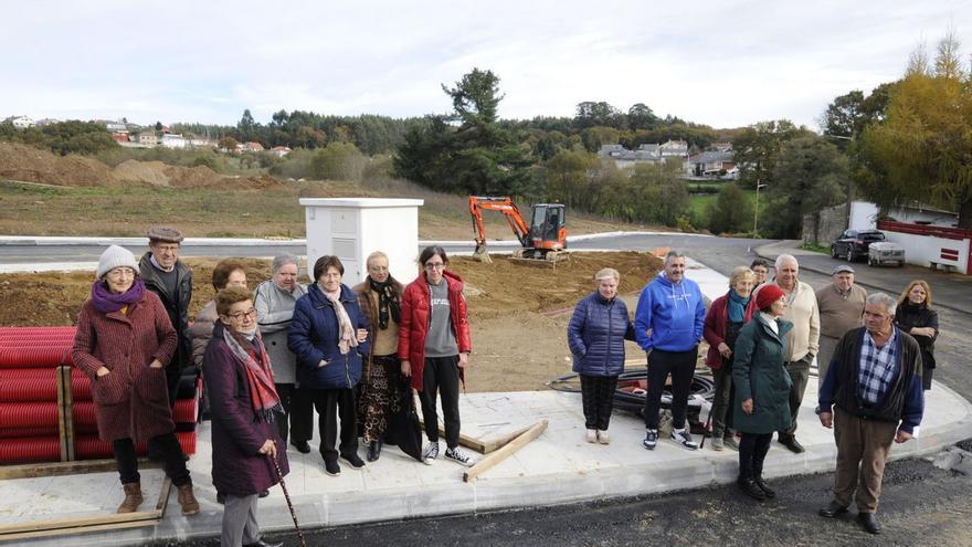
[[[412,378],[422,400],[429,438],[422,460],[432,465],[439,457],[439,391],[445,418],[445,457],[471,466],[473,459],[459,450],[459,381],[472,351],[463,280],[445,270],[448,256],[441,246],[426,246],[419,264],[423,271],[402,294],[399,359],[402,375]]]

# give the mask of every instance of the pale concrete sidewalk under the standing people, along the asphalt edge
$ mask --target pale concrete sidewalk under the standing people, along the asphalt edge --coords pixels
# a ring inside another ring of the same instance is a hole
[[[780,477],[834,469],[836,448],[832,430],[822,428],[813,413],[816,382],[807,387],[800,412],[797,436],[806,448],[793,454],[773,443],[765,473]],[[554,391],[475,393],[461,398],[463,432],[489,439],[540,419],[547,431],[515,455],[464,483],[464,467],[440,457],[423,465],[388,446],[381,460],[362,470],[342,465],[339,477],[324,473],[317,443],[310,454],[288,452],[286,477],[302,527],[330,527],[356,523],[395,520],[434,515],[478,513],[527,506],[546,506],[603,497],[634,496],[698,488],[735,481],[738,454],[708,448],[687,451],[663,441],[653,451],[642,448],[644,422],[616,412],[612,419],[612,444],[584,442],[580,395]],[[919,439],[896,444],[892,459],[931,454],[972,436],[972,404],[936,383],[928,393],[926,420]],[[199,452],[190,462],[202,511],[183,517],[175,498],[162,522],[155,527],[73,535],[72,546],[133,545],[154,540],[214,537],[220,533],[222,507],[209,483],[211,472],[209,424],[200,427]],[[363,456],[363,446],[360,450]],[[344,461],[341,461],[344,462]],[[144,473],[146,502],[155,501],[160,471]],[[0,523],[112,513],[122,501],[115,473],[4,481]],[[175,494],[173,494],[175,496]],[[826,499],[821,499],[825,503]],[[293,529],[290,514],[279,487],[260,502],[258,520],[265,532]],[[21,540],[18,545],[64,545],[64,538]]]

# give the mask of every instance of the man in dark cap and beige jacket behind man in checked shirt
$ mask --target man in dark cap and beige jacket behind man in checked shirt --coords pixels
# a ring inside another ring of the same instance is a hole
[[[864,298],[867,297],[867,291],[854,284],[854,269],[849,265],[838,265],[833,276],[833,283],[816,292],[816,307],[821,314],[821,349],[816,354],[820,383],[827,376],[837,340],[847,330],[860,326]]]

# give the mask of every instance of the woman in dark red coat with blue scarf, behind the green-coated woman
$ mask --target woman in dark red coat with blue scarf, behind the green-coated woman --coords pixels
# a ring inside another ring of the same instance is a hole
[[[716,393],[712,399],[712,450],[729,446],[739,450],[736,432],[732,430],[732,348],[742,325],[749,323],[756,309],[751,298],[757,275],[746,266],[732,270],[729,276],[729,292],[719,296],[709,306],[702,337],[709,343],[706,365],[712,369]]]

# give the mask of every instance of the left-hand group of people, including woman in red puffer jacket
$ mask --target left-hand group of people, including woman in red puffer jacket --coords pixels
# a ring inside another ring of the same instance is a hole
[[[295,256],[277,256],[255,292],[245,265],[223,260],[213,270],[215,298],[190,326],[192,271],[179,260],[182,234],[155,227],[148,236],[140,262],[117,245],[102,253],[72,348],[93,381],[99,438],[112,443],[118,463],[119,513],[137,511],[144,499],[136,442],[148,442],[150,456],[163,461],[182,513],[199,512],[172,420],[187,369],[200,371],[207,388],[225,546],[270,545],[256,523],[257,498],[287,474],[288,442],[310,452],[315,409],[329,475],[340,474],[339,457],[366,465],[359,436],[367,459],[378,461],[390,417],[413,408],[412,388],[429,440],[419,457],[430,465],[439,457],[441,397],[445,457],[474,463],[458,446],[468,314],[463,281],[447,270],[442,248],[422,251],[421,272],[408,286],[392,277],[381,252],[368,257],[368,276],[353,288],[342,283],[336,256],[316,261],[309,285],[298,282]]]

